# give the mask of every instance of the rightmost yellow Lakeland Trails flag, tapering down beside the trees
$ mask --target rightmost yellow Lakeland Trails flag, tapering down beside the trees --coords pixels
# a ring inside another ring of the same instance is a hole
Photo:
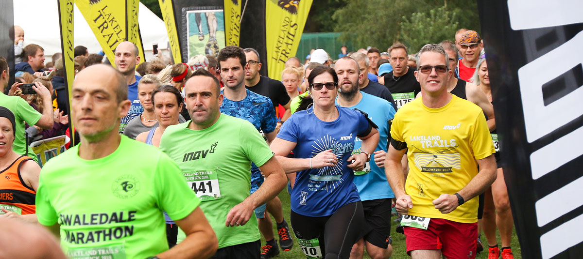
[[[281,80],[281,71],[296,56],[312,0],[266,0],[265,44],[269,77]]]

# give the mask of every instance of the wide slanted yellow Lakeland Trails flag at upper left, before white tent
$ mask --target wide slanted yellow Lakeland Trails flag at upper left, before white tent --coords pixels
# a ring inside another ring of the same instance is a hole
[[[134,3],[132,2],[134,0],[75,0],[79,11],[85,17],[87,24],[89,24],[101,48],[103,48],[103,52],[106,53],[107,59],[110,60],[113,66],[115,66],[115,48],[121,42],[129,39],[128,22],[131,21],[131,24],[138,23],[137,18],[128,19],[128,6],[133,6]],[[138,8],[135,8],[136,17],[137,13]],[[132,42],[138,46],[139,55],[143,55],[142,43],[136,41],[135,38]],[[141,57],[141,60],[143,60],[143,56]]]

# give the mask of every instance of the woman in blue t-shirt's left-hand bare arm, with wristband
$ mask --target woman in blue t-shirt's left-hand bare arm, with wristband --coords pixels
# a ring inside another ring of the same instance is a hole
[[[331,149],[325,150],[311,159],[290,159],[287,154],[296,147],[296,142],[275,138],[270,147],[286,174],[338,164],[338,158]]]

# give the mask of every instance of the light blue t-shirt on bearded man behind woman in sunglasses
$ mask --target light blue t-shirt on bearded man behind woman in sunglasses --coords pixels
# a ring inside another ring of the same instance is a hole
[[[366,92],[360,92],[363,99],[350,109],[359,109],[368,114],[368,118],[378,126],[378,134],[380,140],[375,151],[384,150],[387,152],[387,141],[391,125],[389,120],[395,116],[395,108],[387,100],[378,98],[374,95],[369,95]],[[336,99],[338,103],[338,99]],[[362,141],[359,138],[354,140],[354,153],[360,153]],[[361,200],[376,200],[394,198],[395,194],[389,186],[387,175],[385,175],[385,168],[380,168],[377,163],[374,163],[374,154],[371,154],[371,160],[367,163],[367,168],[370,172],[360,171],[354,174],[354,184],[359,189]]]

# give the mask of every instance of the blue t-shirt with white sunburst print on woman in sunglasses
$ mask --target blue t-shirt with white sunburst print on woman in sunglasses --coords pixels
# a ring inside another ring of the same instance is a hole
[[[309,217],[334,214],[340,207],[360,200],[354,185],[354,172],[347,167],[354,139],[365,134],[368,121],[360,111],[336,106],[335,121],[321,121],[313,108],[297,111],[282,125],[278,138],[295,142],[294,157],[306,159],[332,149],[338,164],[297,172],[296,185],[291,190],[291,210]]]

